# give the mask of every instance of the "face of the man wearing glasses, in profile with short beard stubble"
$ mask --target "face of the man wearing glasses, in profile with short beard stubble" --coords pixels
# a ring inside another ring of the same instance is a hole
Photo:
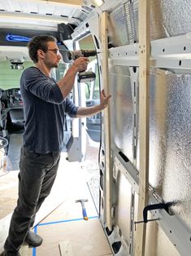
[[[62,56],[59,53],[59,48],[55,42],[47,42],[47,51],[45,52],[45,64],[49,68],[58,68],[59,61]]]

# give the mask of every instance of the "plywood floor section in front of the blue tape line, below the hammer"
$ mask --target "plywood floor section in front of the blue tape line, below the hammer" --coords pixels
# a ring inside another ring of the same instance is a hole
[[[112,255],[98,219],[39,226],[37,233],[44,239],[37,248],[37,256],[59,255],[59,243],[63,241],[69,241],[77,256]]]

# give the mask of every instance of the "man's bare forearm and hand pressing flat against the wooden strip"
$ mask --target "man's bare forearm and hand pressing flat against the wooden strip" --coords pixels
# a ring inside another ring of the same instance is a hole
[[[100,104],[94,105],[93,107],[79,107],[77,110],[77,117],[91,117],[101,112],[108,106],[110,98],[111,95],[106,96],[104,90],[102,90],[100,95]]]

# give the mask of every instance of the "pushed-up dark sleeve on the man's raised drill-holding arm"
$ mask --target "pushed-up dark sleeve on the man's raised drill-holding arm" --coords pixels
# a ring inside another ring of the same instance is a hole
[[[20,78],[20,85],[47,102],[61,104],[64,100],[58,84],[50,77],[46,77],[38,68],[25,69]]]

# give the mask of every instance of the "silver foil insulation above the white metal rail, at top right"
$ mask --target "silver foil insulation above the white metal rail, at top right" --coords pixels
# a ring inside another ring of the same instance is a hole
[[[191,31],[190,0],[150,0],[150,39],[169,38]],[[138,0],[127,1],[110,14],[111,46],[138,42]]]

